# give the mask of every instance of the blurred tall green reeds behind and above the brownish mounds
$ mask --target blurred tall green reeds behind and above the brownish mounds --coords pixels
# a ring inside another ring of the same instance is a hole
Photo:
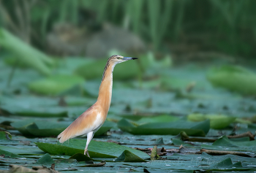
[[[183,43],[200,51],[249,58],[256,54],[255,1],[31,0],[1,4],[0,23],[41,49],[54,23],[70,22],[95,30],[108,21],[131,29],[151,42],[153,50],[175,52],[170,44]]]

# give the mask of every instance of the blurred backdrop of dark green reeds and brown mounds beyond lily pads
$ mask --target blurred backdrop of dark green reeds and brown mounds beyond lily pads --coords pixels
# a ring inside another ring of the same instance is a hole
[[[105,58],[107,48],[159,58],[256,54],[255,1],[1,1],[0,11],[2,27],[50,55]]]

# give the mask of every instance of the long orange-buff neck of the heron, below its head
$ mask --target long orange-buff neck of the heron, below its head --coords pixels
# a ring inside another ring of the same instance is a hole
[[[97,102],[102,106],[104,115],[107,116],[108,109],[110,107],[111,97],[112,97],[112,85],[113,85],[113,69],[115,64],[107,62],[103,75],[102,82],[99,86],[99,96]]]

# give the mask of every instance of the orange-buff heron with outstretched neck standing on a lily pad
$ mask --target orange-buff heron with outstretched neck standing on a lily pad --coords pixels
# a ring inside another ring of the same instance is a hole
[[[134,60],[138,58],[124,57],[121,55],[112,55],[108,58],[105,65],[104,72],[102,74],[102,82],[99,85],[99,95],[95,104],[89,109],[83,112],[73,123],[71,123],[64,131],[57,137],[60,143],[67,141],[68,139],[87,135],[86,148],[84,155],[89,155],[88,145],[94,134],[105,122],[108,109],[110,108],[110,102],[112,97],[112,85],[113,85],[113,69],[116,64],[124,61]]]

